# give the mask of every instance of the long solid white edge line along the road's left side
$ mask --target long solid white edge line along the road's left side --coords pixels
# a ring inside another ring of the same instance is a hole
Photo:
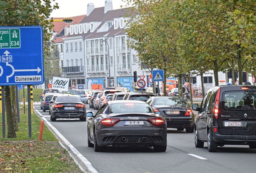
[[[74,153],[74,155],[76,155],[82,162],[83,164],[87,167],[87,169],[91,172],[91,173],[99,173],[94,167],[93,165],[81,154],[79,153],[79,151],[77,151],[77,149],[70,144],[70,142],[68,142],[68,140],[51,124],[49,123],[49,121],[47,121],[47,119],[45,119],[45,117],[43,117],[43,115],[36,109],[34,109],[34,111],[40,116],[41,119],[43,119],[43,121],[45,122],[45,124],[52,129],[52,131],[54,131],[54,133],[60,138],[62,139],[62,141],[64,142],[64,144],[70,148],[70,151],[72,151],[72,153]],[[78,163],[79,164],[79,163]]]

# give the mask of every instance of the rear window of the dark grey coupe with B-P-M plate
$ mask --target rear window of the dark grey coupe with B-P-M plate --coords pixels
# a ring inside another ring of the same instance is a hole
[[[143,103],[114,103],[109,105],[110,113],[152,113],[149,105]]]

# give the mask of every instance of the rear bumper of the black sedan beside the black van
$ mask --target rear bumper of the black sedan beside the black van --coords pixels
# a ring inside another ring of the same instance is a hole
[[[165,117],[168,128],[189,128],[194,125],[194,117]]]

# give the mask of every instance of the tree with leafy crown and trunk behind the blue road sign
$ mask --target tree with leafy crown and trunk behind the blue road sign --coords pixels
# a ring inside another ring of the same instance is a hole
[[[53,0],[55,1],[55,0]],[[51,5],[51,0],[2,0],[0,2],[0,26],[40,25],[43,27],[44,55],[48,55],[47,42],[52,36],[52,21],[48,20],[53,9],[58,4]],[[8,126],[8,138],[16,137],[9,86],[5,86],[5,106]],[[16,107],[16,105],[13,105]]]

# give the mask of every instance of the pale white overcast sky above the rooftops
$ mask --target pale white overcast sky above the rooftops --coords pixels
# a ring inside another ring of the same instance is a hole
[[[87,13],[87,3],[94,3],[94,7],[102,7],[105,0],[56,0],[59,9],[53,10],[50,17],[72,17]],[[113,10],[121,8],[126,4],[122,0],[112,0]],[[124,8],[124,7],[123,7]]]

